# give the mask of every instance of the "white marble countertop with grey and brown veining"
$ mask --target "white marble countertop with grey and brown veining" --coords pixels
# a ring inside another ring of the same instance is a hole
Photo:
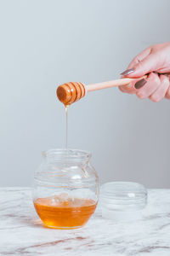
[[[141,220],[121,224],[94,217],[82,229],[44,228],[31,201],[30,188],[0,189],[0,256],[169,256],[170,189],[149,190]]]

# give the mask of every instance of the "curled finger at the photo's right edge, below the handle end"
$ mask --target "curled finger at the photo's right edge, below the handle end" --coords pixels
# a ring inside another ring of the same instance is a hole
[[[169,87],[169,79],[166,75],[160,75],[160,86],[157,88],[157,90],[150,96],[150,100],[152,102],[160,102],[167,93],[167,89]],[[167,93],[168,96],[168,93]],[[170,98],[170,95],[169,95]]]

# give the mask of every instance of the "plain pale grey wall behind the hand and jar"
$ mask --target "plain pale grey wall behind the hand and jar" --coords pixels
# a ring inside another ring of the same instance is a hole
[[[0,1],[1,186],[30,186],[41,152],[65,147],[58,84],[119,78],[150,44],[170,41],[170,1]],[[117,88],[69,113],[69,147],[90,150],[101,183],[170,188],[170,102]]]

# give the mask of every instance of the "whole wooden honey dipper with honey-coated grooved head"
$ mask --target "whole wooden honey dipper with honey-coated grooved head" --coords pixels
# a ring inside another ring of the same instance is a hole
[[[131,83],[133,80],[144,79],[146,76],[138,79],[117,79],[97,84],[82,84],[81,82],[68,82],[59,85],[57,88],[57,96],[59,101],[65,104],[65,106],[71,105],[73,102],[79,101],[89,91],[101,90],[105,88],[120,86]]]

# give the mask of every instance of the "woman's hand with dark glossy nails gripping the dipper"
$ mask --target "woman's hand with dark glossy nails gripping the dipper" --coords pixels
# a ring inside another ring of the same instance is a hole
[[[135,93],[140,99],[149,97],[153,102],[160,102],[164,97],[170,99],[170,43],[155,44],[144,49],[122,76],[139,78],[144,74],[147,74],[147,79],[119,86],[120,90]]]

